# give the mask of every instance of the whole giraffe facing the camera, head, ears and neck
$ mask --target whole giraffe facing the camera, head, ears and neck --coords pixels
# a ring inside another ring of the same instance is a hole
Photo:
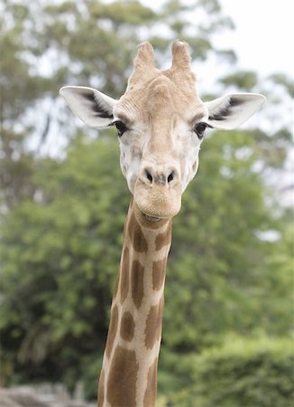
[[[198,171],[206,128],[232,129],[262,107],[264,96],[198,97],[188,44],[172,44],[170,69],[160,71],[150,43],[138,45],[124,95],[87,87],[60,90],[88,126],[115,126],[120,162],[131,192],[120,270],[98,384],[98,407],[154,407],[161,345],[171,219]]]

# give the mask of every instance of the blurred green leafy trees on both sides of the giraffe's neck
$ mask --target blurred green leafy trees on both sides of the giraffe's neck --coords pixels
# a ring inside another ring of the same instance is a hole
[[[226,137],[207,138],[174,220],[164,393],[192,385],[191,352],[221,344],[227,332],[284,335],[292,324],[290,234],[260,239],[258,230],[281,231],[283,223],[264,206],[262,179],[251,170],[253,135],[234,132],[230,145]],[[64,160],[41,160],[33,181],[34,200],[2,224],[2,374],[5,383],[46,378],[69,387],[83,377],[94,396],[129,201],[114,134],[79,135]]]

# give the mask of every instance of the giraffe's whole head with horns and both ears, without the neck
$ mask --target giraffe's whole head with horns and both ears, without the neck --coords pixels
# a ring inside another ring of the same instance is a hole
[[[173,43],[172,65],[166,71],[156,68],[152,45],[140,44],[118,100],[87,87],[67,86],[60,94],[88,126],[117,128],[122,172],[147,222],[179,212],[181,194],[198,171],[206,128],[236,128],[265,100],[239,93],[203,102],[188,44],[179,41]]]

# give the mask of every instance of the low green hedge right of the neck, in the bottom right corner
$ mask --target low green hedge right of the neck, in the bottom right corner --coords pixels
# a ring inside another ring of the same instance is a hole
[[[163,406],[292,405],[292,337],[226,336],[223,344],[198,355],[181,355],[180,364],[179,357],[163,350],[161,363],[167,372],[159,376]]]

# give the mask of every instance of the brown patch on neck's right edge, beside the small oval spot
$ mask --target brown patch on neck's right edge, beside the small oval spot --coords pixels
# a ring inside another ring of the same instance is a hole
[[[161,338],[161,325],[163,313],[164,298],[161,297],[160,303],[150,308],[145,327],[145,345],[148,349],[152,349]]]

